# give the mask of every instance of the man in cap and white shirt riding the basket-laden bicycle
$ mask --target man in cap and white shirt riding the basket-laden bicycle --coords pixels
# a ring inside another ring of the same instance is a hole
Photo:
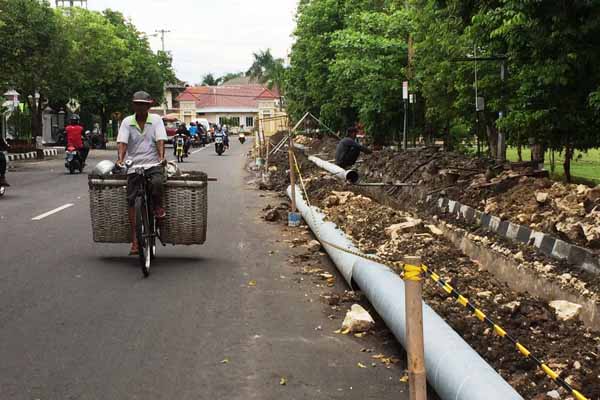
[[[133,161],[133,168],[127,175],[127,201],[129,204],[129,223],[132,230],[132,243],[130,255],[137,255],[139,247],[135,230],[134,202],[137,191],[143,183],[144,176],[135,173],[135,168],[144,168],[149,177],[152,204],[156,218],[166,216],[162,207],[163,171],[162,165],[166,164],[165,142],[168,140],[165,125],[156,114],[149,114],[148,110],[153,100],[146,92],[140,91],[133,95],[132,107],[135,112],[123,120],[119,128],[117,143],[119,146],[119,159],[117,165],[123,166],[125,159]]]

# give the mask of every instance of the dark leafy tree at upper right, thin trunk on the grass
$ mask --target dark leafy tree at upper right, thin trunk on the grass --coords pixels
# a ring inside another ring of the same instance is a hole
[[[507,43],[517,83],[507,130],[528,129],[547,147],[565,152],[568,180],[575,149],[598,146],[594,93],[600,84],[600,4],[506,2],[484,17],[493,40]]]

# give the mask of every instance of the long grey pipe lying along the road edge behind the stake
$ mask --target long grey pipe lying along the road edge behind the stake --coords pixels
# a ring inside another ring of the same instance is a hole
[[[288,188],[291,197],[291,187]],[[383,318],[396,339],[406,346],[404,282],[385,265],[340,251],[324,241],[358,249],[319,209],[308,207],[299,187],[296,206],[346,282],[356,283]],[[423,333],[427,381],[443,400],[523,400],[494,369],[454,330],[423,303]]]

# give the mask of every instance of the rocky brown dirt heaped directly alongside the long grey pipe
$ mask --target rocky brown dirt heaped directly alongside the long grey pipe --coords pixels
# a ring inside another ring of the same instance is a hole
[[[576,320],[561,321],[546,302],[514,292],[415,215],[347,191],[320,197],[319,205],[328,218],[351,236],[362,251],[390,261],[404,254],[421,256],[426,265],[569,383],[592,399],[600,398],[599,333]],[[567,396],[509,341],[469,316],[465,307],[432,282],[424,286],[424,298],[525,398],[542,399],[552,390]]]

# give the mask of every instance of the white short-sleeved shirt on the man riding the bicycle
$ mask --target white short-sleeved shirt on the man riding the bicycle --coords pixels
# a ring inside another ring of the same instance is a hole
[[[126,159],[133,161],[132,167],[148,169],[160,162],[156,142],[159,140],[166,142],[167,139],[165,124],[159,115],[149,113],[142,132],[134,114],[121,122],[117,143],[127,145]],[[130,168],[129,173],[133,172],[135,169]]]

